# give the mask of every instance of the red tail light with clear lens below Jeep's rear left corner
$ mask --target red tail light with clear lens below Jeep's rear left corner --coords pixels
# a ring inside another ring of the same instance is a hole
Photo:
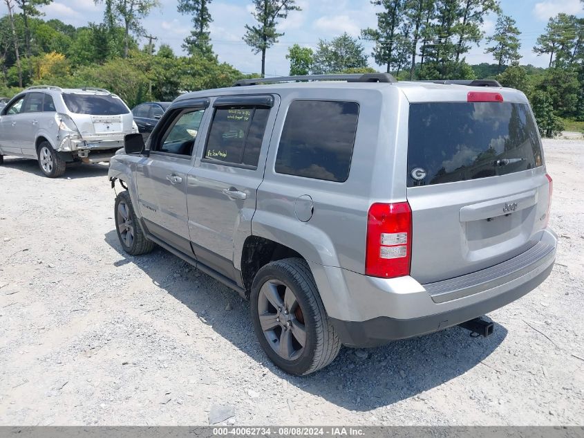
[[[407,202],[375,203],[367,217],[365,273],[393,278],[410,275],[412,210]]]

